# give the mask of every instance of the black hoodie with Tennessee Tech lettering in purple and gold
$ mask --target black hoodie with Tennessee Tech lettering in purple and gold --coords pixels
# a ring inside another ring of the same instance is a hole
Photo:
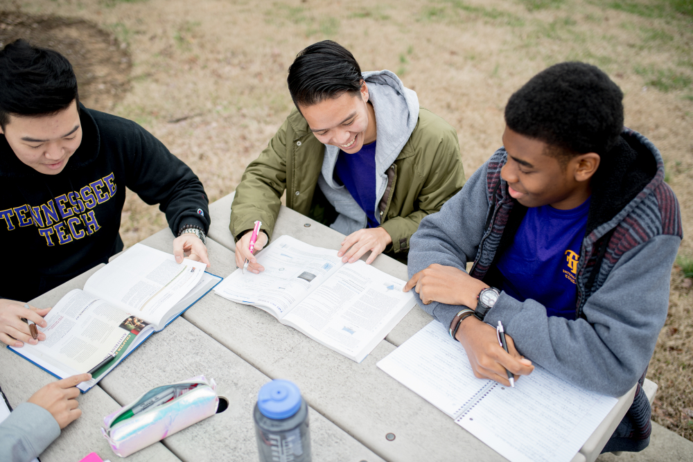
[[[207,232],[207,195],[198,177],[132,121],[80,105],[82,143],[58,175],[19,161],[0,136],[0,298],[30,299],[123,249],[125,187],[159,204],[171,231]]]

